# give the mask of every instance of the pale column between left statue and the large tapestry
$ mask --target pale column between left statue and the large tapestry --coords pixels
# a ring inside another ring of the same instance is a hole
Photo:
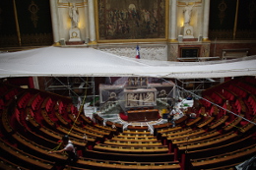
[[[88,0],[88,7],[89,7],[89,32],[90,32],[89,44],[96,44],[96,21],[95,21],[94,0]]]

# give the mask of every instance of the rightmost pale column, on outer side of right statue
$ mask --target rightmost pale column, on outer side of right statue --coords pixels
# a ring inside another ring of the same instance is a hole
[[[204,0],[203,40],[209,40],[210,0]]]

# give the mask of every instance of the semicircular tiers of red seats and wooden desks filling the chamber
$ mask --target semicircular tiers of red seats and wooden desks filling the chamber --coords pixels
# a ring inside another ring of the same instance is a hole
[[[252,82],[251,78],[234,80],[203,94],[220,106],[228,100],[224,107],[239,117],[202,100],[196,108],[189,109],[197,113],[196,119],[186,116],[173,128],[169,124],[155,126],[154,135],[144,127],[122,131],[122,125],[115,124],[117,128],[112,129],[109,121],[103,126],[98,115],[94,123],[84,114],[79,115],[70,98],[64,96],[1,85],[1,164],[13,169],[67,169],[63,166],[66,155],[48,151],[69,134],[80,155],[71,169],[234,167],[256,151],[255,126],[242,119],[256,122],[256,90],[255,81]],[[237,86],[246,95],[238,93]]]

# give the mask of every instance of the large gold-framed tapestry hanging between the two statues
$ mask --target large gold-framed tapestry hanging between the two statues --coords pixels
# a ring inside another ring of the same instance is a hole
[[[97,0],[98,39],[165,37],[165,0]]]

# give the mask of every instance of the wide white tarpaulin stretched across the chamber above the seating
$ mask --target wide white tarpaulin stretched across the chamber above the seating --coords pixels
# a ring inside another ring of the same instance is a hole
[[[135,56],[134,54],[131,54]],[[222,78],[256,76],[256,56],[228,61],[133,59],[85,47],[43,47],[0,53],[0,77]]]

